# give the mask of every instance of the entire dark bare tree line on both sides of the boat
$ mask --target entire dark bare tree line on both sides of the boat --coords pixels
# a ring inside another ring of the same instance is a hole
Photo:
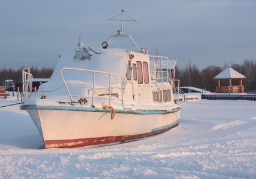
[[[199,70],[196,64],[188,63],[184,68],[176,66],[176,79],[180,79],[180,87],[196,87],[204,88],[207,91],[214,92],[217,87],[217,80],[214,79],[228,65],[223,67],[208,66]],[[246,76],[243,79],[243,85],[246,92],[256,92],[256,61],[245,59],[242,64],[232,64],[231,68]],[[5,79],[13,79],[15,83],[22,83],[22,69],[3,68],[0,70],[0,85],[4,85]],[[53,73],[52,67],[31,67],[33,78],[50,78]],[[234,85],[238,85],[239,81],[233,80]],[[227,80],[221,81],[221,85],[227,85]]]

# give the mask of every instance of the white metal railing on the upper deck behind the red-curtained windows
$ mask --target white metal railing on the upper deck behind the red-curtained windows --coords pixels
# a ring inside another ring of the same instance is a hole
[[[168,57],[149,55],[151,81],[157,84],[168,82],[172,84],[170,77],[170,63]]]

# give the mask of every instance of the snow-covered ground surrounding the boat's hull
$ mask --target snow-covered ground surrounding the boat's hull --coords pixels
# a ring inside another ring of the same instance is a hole
[[[181,105],[178,127],[94,149],[43,149],[28,113],[0,108],[0,178],[256,178],[256,101]]]

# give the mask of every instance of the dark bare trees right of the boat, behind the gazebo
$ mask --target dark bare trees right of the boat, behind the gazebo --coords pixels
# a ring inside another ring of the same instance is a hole
[[[256,92],[256,61],[245,59],[242,64],[231,64],[232,69],[246,76],[243,79],[245,92]],[[180,87],[197,87],[214,92],[217,87],[217,79],[214,79],[219,73],[228,67],[224,64],[220,66],[208,66],[199,70],[195,64],[188,63],[183,69],[176,67],[176,79],[180,79]],[[227,86],[228,80],[221,80],[221,86]],[[239,79],[233,79],[232,85],[239,85]]]

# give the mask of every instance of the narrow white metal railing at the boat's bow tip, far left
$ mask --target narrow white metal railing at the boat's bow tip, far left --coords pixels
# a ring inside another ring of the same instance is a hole
[[[22,69],[22,100],[28,97],[28,93],[29,97],[32,97],[32,83],[33,75],[30,71],[30,68],[25,67],[24,69]]]

